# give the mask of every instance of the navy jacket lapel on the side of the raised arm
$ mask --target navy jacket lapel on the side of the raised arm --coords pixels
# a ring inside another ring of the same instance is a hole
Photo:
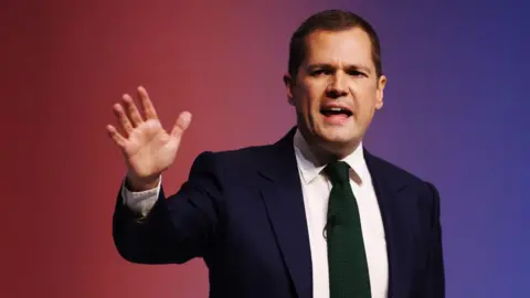
[[[298,297],[312,297],[312,268],[304,196],[293,148],[295,129],[273,146],[259,174],[262,198]]]

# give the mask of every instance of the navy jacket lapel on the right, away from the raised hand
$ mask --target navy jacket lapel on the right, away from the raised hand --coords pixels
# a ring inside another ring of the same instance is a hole
[[[386,254],[389,258],[389,298],[407,297],[411,276],[410,256],[413,254],[407,248],[409,233],[406,233],[406,216],[409,212],[402,205],[406,200],[401,196],[406,194],[406,181],[401,174],[392,174],[385,161],[372,156],[364,150],[364,158],[372,177],[373,187],[378,196],[379,207],[383,220]]]

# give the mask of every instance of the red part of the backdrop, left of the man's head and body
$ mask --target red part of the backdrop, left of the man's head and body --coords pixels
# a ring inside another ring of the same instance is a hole
[[[0,297],[206,296],[202,260],[138,266],[118,256],[110,220],[125,168],[105,125],[139,84],[167,127],[181,110],[193,114],[165,178],[170,191],[200,151],[274,141],[293,124],[282,74],[298,20],[278,21],[295,11],[288,4],[269,7],[279,14],[265,25],[259,4],[191,2],[2,3],[1,158],[10,170]],[[253,73],[258,79],[247,79]]]

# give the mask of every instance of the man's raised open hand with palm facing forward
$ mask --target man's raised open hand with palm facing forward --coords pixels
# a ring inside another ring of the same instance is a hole
[[[141,191],[155,188],[160,174],[173,163],[182,135],[191,123],[191,114],[181,113],[168,134],[147,91],[140,86],[137,94],[144,116],[132,98],[125,94],[121,103],[114,105],[120,129],[107,125],[107,132],[124,153],[129,187]]]

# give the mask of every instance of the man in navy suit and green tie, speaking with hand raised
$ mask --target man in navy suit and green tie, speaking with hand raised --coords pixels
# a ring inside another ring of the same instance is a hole
[[[167,196],[161,174],[191,114],[170,132],[146,89],[107,130],[128,167],[114,215],[119,254],[140,264],[202,257],[211,297],[444,297],[439,202],[428,182],[374,157],[362,138],[383,105],[379,40],[330,10],[290,42],[287,97],[297,126],[278,142],[203,152]]]

